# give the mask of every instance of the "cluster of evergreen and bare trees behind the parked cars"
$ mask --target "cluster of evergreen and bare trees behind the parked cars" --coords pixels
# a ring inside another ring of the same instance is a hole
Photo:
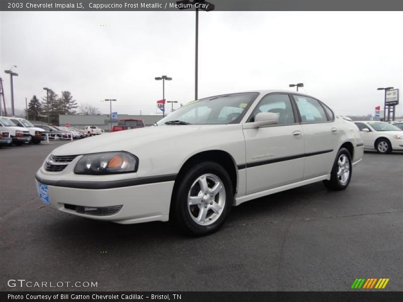
[[[76,109],[78,108],[78,112]],[[73,99],[70,91],[62,91],[58,96],[53,90],[49,89],[48,96],[42,97],[39,101],[36,95],[32,96],[29,101],[28,109],[25,110],[25,115],[28,120],[43,121],[49,120],[50,124],[59,124],[59,114],[64,115],[97,115],[100,114],[98,108],[93,105],[83,104],[78,105]]]

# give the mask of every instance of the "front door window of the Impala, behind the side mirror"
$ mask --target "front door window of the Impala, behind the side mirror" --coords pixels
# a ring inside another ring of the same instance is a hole
[[[276,113],[279,117],[279,125],[295,123],[293,107],[287,94],[271,94],[263,97],[249,118],[249,122],[254,122],[256,114],[260,112]]]

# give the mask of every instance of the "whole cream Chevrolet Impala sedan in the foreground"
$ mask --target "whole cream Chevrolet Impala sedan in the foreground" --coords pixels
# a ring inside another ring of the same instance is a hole
[[[36,173],[44,203],[78,216],[217,230],[233,205],[323,181],[343,190],[363,142],[319,100],[264,90],[189,103],[156,126],[60,146]]]

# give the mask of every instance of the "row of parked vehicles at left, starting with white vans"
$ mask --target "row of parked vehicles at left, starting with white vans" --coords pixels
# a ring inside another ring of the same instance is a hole
[[[92,131],[87,131],[87,129]],[[47,140],[48,137],[49,139],[80,139],[95,135],[95,133],[101,134],[102,130],[96,126],[77,129],[76,127],[32,124],[24,118],[0,117],[0,146],[38,144]]]

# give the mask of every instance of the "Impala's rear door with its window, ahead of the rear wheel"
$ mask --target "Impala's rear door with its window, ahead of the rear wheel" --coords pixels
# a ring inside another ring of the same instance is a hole
[[[314,98],[293,94],[305,136],[303,179],[330,173],[339,144],[333,112]],[[327,113],[326,113],[327,112]]]

